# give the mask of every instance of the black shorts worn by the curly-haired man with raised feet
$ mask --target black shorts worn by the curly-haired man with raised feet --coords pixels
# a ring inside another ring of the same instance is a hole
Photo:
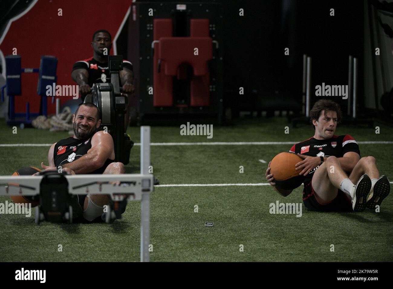
[[[312,188],[312,180],[304,185],[303,203],[310,211],[317,212],[353,212],[352,202],[347,194],[338,190],[337,197],[327,204],[320,204],[315,198],[314,188]]]

